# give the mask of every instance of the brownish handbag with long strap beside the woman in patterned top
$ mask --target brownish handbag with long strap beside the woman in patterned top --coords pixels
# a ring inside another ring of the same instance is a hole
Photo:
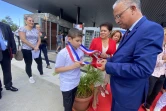
[[[18,49],[17,49],[16,55],[15,55],[15,59],[17,61],[22,61],[23,60],[23,54],[22,54],[22,51],[21,51],[20,38],[19,38],[19,36],[17,36],[17,38],[18,38]]]

